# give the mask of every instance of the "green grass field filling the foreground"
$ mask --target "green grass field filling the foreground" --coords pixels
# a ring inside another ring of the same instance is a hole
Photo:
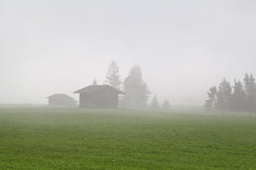
[[[256,117],[0,108],[0,169],[256,169]]]

